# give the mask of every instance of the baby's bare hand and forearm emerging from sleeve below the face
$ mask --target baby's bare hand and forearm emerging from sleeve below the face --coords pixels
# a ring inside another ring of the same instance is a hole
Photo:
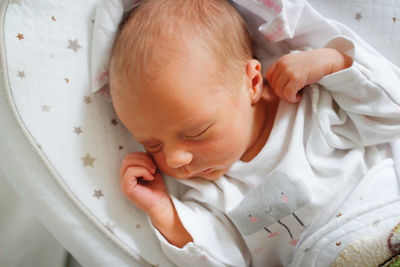
[[[182,248],[193,239],[183,227],[161,174],[148,154],[127,155],[120,170],[122,192],[146,212],[153,225],[171,244]]]

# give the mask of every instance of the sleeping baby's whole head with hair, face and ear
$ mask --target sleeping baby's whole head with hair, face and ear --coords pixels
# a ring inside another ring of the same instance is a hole
[[[114,44],[114,108],[162,172],[217,179],[257,138],[263,79],[252,56],[225,0],[141,1]]]

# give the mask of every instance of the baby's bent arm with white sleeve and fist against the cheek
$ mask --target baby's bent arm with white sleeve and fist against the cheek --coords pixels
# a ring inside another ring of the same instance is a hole
[[[161,249],[177,266],[249,265],[247,246],[230,220],[193,199],[191,190],[185,192],[182,200],[171,197],[146,153],[127,155],[120,173],[121,190],[149,215]],[[212,190],[208,189],[205,191]]]

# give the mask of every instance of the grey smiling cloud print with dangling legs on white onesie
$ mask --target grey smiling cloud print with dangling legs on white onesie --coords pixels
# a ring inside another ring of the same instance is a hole
[[[291,216],[296,223],[304,227],[295,211],[310,200],[311,193],[304,181],[292,179],[285,173],[277,171],[252,189],[228,214],[244,235],[264,229],[269,233],[269,237],[274,237],[279,232],[271,232],[268,227],[278,223],[288,232],[289,243],[295,246],[298,240],[294,238],[290,225],[282,222],[282,219]]]

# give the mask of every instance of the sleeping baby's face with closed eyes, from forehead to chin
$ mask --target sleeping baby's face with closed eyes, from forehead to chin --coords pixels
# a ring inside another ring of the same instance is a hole
[[[217,68],[211,55],[192,51],[133,95],[113,96],[122,123],[167,175],[215,180],[250,146],[253,112],[246,78],[229,86],[213,77],[221,73]]]

